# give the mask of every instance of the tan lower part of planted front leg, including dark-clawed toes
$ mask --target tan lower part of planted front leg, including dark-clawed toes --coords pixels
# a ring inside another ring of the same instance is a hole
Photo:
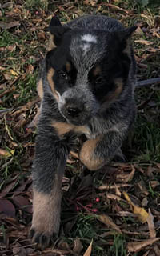
[[[34,190],[33,219],[30,238],[42,249],[58,238],[60,226],[60,194],[43,194]]]

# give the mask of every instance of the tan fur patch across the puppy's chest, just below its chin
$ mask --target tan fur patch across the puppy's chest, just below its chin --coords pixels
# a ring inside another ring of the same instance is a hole
[[[66,122],[52,122],[51,126],[53,126],[58,134],[58,136],[62,136],[64,134],[73,131],[76,134],[88,134],[89,130],[86,126],[74,126],[71,123]]]

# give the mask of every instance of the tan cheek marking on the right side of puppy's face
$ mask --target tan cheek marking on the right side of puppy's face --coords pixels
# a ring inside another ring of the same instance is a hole
[[[106,107],[110,106],[111,103],[115,102],[118,96],[122,93],[122,87],[123,87],[122,78],[114,79],[114,83],[116,85],[115,90],[111,91],[106,95],[102,103],[101,110],[104,110]]]

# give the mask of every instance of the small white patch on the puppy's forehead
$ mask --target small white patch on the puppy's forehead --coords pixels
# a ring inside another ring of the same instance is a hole
[[[91,43],[97,42],[96,37],[92,34],[83,34],[81,39],[82,44],[80,44],[80,47],[83,50],[83,54],[86,54],[86,52],[90,50]]]

